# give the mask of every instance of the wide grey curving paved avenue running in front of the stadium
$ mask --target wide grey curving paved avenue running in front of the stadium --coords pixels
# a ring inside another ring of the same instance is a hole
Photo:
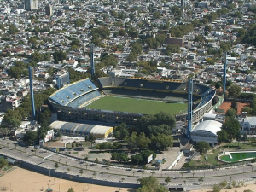
[[[44,166],[50,169],[55,169],[55,163],[58,162],[59,167],[56,169],[58,172],[68,172],[73,175],[78,175],[82,169],[83,174],[79,174],[81,177],[94,177],[96,179],[108,180],[113,182],[123,183],[137,183],[137,179],[140,177],[148,177],[153,175],[157,177],[160,183],[165,183],[166,177],[171,177],[170,186],[186,186],[186,189],[201,189],[200,185],[212,186],[215,183],[222,182],[224,180],[230,182],[238,181],[251,181],[255,177],[256,166],[236,166],[229,167],[220,170],[204,170],[196,172],[176,172],[176,171],[148,171],[137,169],[126,169],[116,166],[105,166],[101,164],[95,164],[91,162],[76,160],[69,158],[65,155],[55,154],[44,149],[37,149],[32,152],[32,148],[24,148],[15,146],[15,142],[9,140],[0,140],[0,154],[5,154],[9,157],[13,157],[17,160],[25,160],[38,166]],[[255,166],[255,169],[254,169]],[[49,171],[50,174],[50,171]],[[203,177],[203,181],[200,183],[199,178]]]

